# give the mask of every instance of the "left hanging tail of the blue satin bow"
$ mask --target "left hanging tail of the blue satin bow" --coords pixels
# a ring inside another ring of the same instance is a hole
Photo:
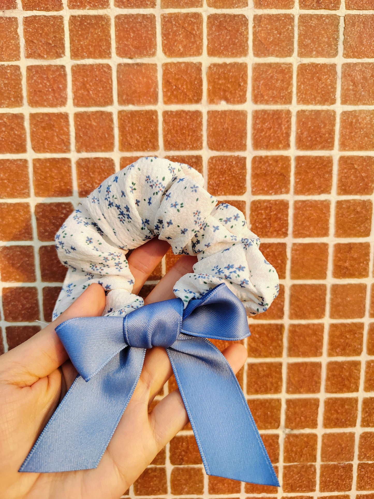
[[[125,348],[90,381],[77,376],[19,471],[96,468],[138,383],[145,352]]]

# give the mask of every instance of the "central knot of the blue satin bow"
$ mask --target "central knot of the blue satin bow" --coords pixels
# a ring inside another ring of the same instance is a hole
[[[180,298],[137,308],[125,317],[125,341],[129,346],[137,348],[168,348],[181,332],[182,315],[183,302]]]

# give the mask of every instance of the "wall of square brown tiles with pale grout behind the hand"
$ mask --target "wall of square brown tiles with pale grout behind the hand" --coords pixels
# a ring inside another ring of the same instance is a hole
[[[239,379],[282,487],[208,478],[187,426],[125,495],[373,499],[374,0],[253,1],[0,0],[3,347],[50,320],[79,198],[187,162],[281,279]]]

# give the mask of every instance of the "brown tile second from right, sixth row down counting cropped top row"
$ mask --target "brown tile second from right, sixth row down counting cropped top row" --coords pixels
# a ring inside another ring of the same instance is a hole
[[[288,234],[288,201],[256,200],[251,202],[251,231],[259,238],[286,238]]]

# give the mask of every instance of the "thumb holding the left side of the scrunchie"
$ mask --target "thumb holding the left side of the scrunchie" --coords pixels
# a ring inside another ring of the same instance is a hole
[[[67,359],[54,328],[72,317],[101,315],[105,292],[100,284],[91,284],[56,320],[0,358],[0,380],[30,386],[47,376]]]

